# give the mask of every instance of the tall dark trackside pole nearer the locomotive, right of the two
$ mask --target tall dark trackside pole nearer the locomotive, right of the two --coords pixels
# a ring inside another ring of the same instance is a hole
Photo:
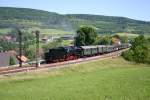
[[[40,66],[40,52],[39,52],[39,35],[40,32],[39,31],[35,31],[35,35],[36,35],[36,68],[38,68]]]

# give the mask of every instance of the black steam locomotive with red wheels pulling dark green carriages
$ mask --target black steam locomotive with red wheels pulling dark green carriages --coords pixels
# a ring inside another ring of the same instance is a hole
[[[102,55],[128,47],[130,47],[129,44],[58,47],[49,49],[49,51],[45,53],[45,61],[46,63],[54,63],[75,60],[83,57]]]

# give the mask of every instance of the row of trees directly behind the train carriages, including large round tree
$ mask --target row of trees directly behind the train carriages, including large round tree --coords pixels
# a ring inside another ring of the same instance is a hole
[[[128,43],[127,37],[120,37],[119,35],[104,35],[99,36],[94,27],[82,26],[77,30],[75,37],[76,46],[88,45],[113,45],[116,43]]]

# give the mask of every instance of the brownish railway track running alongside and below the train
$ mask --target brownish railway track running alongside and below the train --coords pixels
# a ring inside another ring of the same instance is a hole
[[[77,60],[70,60],[70,61],[65,61],[65,62],[58,62],[58,63],[51,63],[51,64],[42,64],[40,67],[36,68],[34,66],[26,66],[26,67],[8,67],[8,68],[0,68],[0,75],[13,75],[17,73],[26,73],[26,72],[31,72],[35,70],[41,70],[41,69],[52,69],[52,68],[61,68],[61,67],[66,67],[65,65],[69,64],[75,64],[75,63],[81,63],[81,62],[87,62],[87,61],[93,61],[97,59],[109,59],[112,57],[118,57],[121,55],[123,51],[126,51],[127,49],[103,54],[103,55],[98,55],[98,56],[92,56],[92,57],[87,57],[87,58],[80,58]]]

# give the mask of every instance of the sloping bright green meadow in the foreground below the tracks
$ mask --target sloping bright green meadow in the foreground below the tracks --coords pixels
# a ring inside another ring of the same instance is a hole
[[[150,100],[150,66],[119,57],[2,77],[0,100]]]

